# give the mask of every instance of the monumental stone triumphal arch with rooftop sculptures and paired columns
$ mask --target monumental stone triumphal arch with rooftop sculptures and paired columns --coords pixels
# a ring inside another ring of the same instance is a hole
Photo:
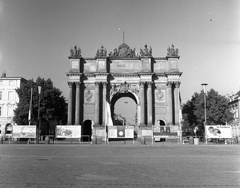
[[[82,134],[103,135],[121,97],[136,103],[138,137],[151,131],[176,135],[180,124],[178,49],[153,57],[145,45],[136,53],[126,43],[107,53],[100,47],[95,57],[84,58],[77,46],[70,50],[68,125],[82,125]],[[108,110],[110,109],[110,110]],[[110,111],[110,113],[109,113]],[[161,134],[162,133],[162,134]]]

